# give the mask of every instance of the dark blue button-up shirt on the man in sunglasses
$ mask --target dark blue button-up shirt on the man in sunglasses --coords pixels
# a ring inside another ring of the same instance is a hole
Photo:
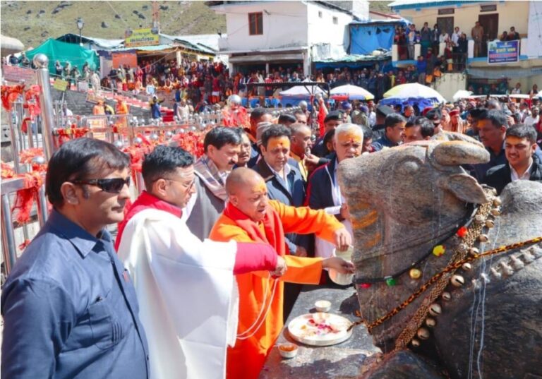
[[[148,378],[138,301],[107,231],[53,210],[1,296],[1,377]]]

